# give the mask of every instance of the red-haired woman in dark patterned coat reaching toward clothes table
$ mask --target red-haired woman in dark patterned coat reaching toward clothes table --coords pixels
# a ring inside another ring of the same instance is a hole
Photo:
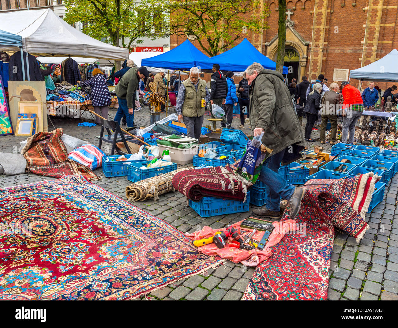
[[[77,81],[80,86],[91,86],[90,99],[94,107],[94,111],[106,118],[108,116],[109,105],[111,104],[111,93],[108,89],[108,83],[103,72],[94,68],[93,76],[85,81]],[[96,124],[101,125],[101,120],[96,116]]]

